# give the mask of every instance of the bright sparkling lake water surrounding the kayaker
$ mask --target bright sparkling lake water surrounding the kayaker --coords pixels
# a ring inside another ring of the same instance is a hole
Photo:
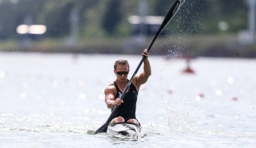
[[[255,59],[195,58],[187,74],[184,59],[150,56],[136,113],[146,136],[88,134],[110,115],[103,90],[119,58],[130,76],[141,59],[0,53],[0,147],[256,147]]]

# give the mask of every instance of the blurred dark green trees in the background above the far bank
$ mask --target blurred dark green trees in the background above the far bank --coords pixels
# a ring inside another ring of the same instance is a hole
[[[165,16],[174,0],[146,0],[149,16]],[[77,7],[79,36],[127,36],[130,15],[139,15],[139,0],[0,0],[0,39],[17,38],[17,26],[30,16],[33,24],[47,26],[46,38],[70,34],[70,12]],[[219,34],[219,21],[226,21],[228,33],[247,29],[244,0],[187,0],[178,12],[178,30],[188,34]],[[168,33],[175,32],[170,30]]]

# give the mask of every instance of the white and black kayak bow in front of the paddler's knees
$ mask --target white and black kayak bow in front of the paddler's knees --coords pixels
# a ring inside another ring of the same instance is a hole
[[[141,127],[135,123],[109,123],[107,134],[121,139],[138,140]]]

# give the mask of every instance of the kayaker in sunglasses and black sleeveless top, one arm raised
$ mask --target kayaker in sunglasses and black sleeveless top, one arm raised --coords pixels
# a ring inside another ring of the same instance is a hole
[[[124,93],[128,83],[128,73],[130,71],[129,63],[126,60],[117,60],[114,64],[114,72],[116,74],[116,81],[112,82],[105,89],[105,102],[108,109],[113,109],[116,105],[119,105],[116,109],[115,115],[111,119],[111,123],[135,123],[140,124],[136,119],[136,102],[137,95],[140,90],[140,86],[148,81],[151,75],[151,67],[149,64],[149,53],[145,49],[142,53],[144,56],[144,71],[139,76],[135,76],[131,81],[130,88],[126,90],[126,95],[121,100],[119,93]]]

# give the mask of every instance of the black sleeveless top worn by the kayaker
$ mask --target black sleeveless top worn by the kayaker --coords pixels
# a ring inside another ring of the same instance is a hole
[[[119,90],[118,86],[116,85],[116,81],[114,81],[114,84],[116,87],[115,98],[118,98],[120,97],[118,92],[121,92],[121,90]],[[113,118],[121,116],[122,118],[125,119],[126,122],[130,118],[136,118],[135,113],[136,113],[137,96],[138,96],[138,91],[136,90],[135,86],[131,83],[130,90],[126,93],[125,97],[123,98],[124,103],[118,106]]]

